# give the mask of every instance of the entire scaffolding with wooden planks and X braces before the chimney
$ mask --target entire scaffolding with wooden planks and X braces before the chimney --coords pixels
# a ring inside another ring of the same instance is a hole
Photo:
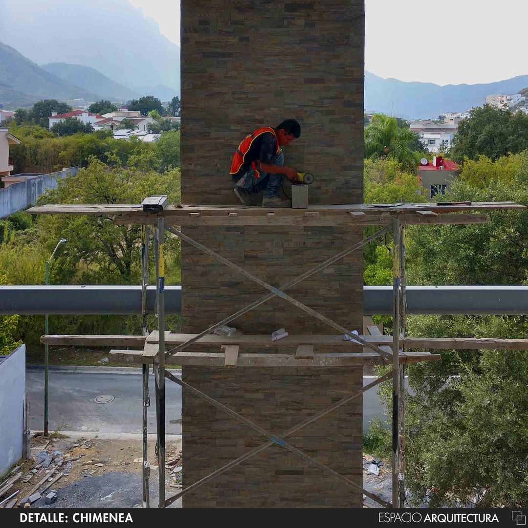
[[[484,340],[478,338],[413,338],[406,336],[406,225],[408,224],[467,224],[483,223],[487,215],[475,211],[525,209],[513,202],[486,202],[474,204],[454,204],[439,206],[436,204],[392,204],[374,205],[330,205],[311,206],[308,210],[266,210],[260,208],[244,208],[230,206],[182,206],[176,204],[159,213],[146,213],[135,205],[44,205],[30,209],[32,214],[105,214],[113,217],[119,224],[140,224],[142,226],[142,335],[141,336],[57,336],[44,335],[42,342],[58,345],[110,345],[135,346],[143,345],[140,350],[122,350],[116,348],[110,352],[110,357],[118,361],[142,364],[143,372],[143,507],[150,507],[149,477],[150,467],[147,452],[147,409],[150,406],[148,375],[149,365],[153,365],[157,441],[156,455],[159,471],[159,503],[158,507],[166,507],[186,493],[209,482],[230,468],[256,455],[260,451],[277,444],[291,453],[303,458],[308,464],[331,474],[334,478],[359,491],[383,507],[404,507],[405,496],[405,365],[421,361],[437,361],[440,355],[429,352],[407,352],[406,348],[528,348],[526,340]],[[472,211],[473,214],[465,214]],[[458,214],[445,214],[458,213]],[[314,268],[304,272],[285,284],[274,286],[254,276],[247,270],[225,259],[220,254],[203,246],[200,242],[188,237],[175,226],[185,225],[341,225],[362,226],[382,225],[376,231],[359,243],[354,244],[325,260]],[[147,327],[146,288],[148,286],[148,248],[150,228],[153,228],[154,262],[156,270],[156,315],[157,331],[149,331]],[[237,312],[224,317],[218,323],[204,329],[199,334],[172,334],[165,332],[164,290],[165,290],[165,231],[168,231],[187,242],[199,251],[222,262],[232,270],[237,271],[249,280],[256,282],[269,293]],[[369,335],[356,335],[350,328],[345,328],[320,314],[313,308],[300,303],[289,296],[285,290],[297,285],[304,279],[314,275],[342,259],[354,251],[360,250],[365,244],[382,237],[389,232],[393,237],[393,335],[382,335],[375,326],[370,326]],[[249,312],[257,306],[266,303],[273,297],[281,297],[307,314],[326,323],[339,335],[290,335],[280,340],[280,347],[291,348],[295,353],[241,353],[240,347],[259,346],[262,348],[276,345],[270,343],[268,335],[218,336],[212,332],[216,328],[230,323],[237,317]],[[347,341],[344,340],[347,338]],[[168,350],[166,350],[166,348]],[[197,352],[196,348],[213,348],[216,352]],[[363,347],[369,349],[365,352]],[[189,348],[187,352],[183,352]],[[342,352],[336,352],[342,350]],[[316,351],[318,353],[316,353]],[[268,431],[257,423],[243,417],[221,402],[205,394],[194,386],[178,379],[166,370],[167,363],[181,365],[222,366],[225,368],[261,367],[261,366],[362,366],[364,364],[385,364],[389,371],[375,381],[363,386],[359,391],[346,395],[326,409],[301,421],[287,431]],[[237,459],[230,461],[221,468],[215,469],[209,475],[194,484],[183,488],[168,498],[165,498],[165,378],[188,390],[197,397],[208,401],[216,408],[229,414],[232,418],[244,423],[261,434],[263,443]],[[338,407],[343,406],[363,392],[372,389],[384,381],[392,379],[392,502],[385,501],[346,476],[336,472],[326,464],[291,445],[286,438],[294,432],[306,427],[309,423],[325,416]]]

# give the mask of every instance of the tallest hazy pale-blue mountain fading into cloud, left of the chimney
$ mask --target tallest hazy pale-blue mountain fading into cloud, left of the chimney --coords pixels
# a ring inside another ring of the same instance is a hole
[[[180,47],[129,0],[0,0],[0,35],[37,64],[82,64],[140,95],[146,84],[180,94]]]

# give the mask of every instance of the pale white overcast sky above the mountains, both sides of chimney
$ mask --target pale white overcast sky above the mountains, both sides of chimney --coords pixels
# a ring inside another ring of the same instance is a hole
[[[130,3],[180,44],[178,0]],[[528,74],[526,0],[365,0],[365,11],[365,69],[380,77],[475,84]]]

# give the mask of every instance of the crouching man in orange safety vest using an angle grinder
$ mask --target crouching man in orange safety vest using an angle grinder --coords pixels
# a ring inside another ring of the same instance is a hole
[[[262,207],[291,207],[291,200],[279,198],[279,187],[287,177],[297,179],[293,167],[284,166],[282,146],[300,136],[300,125],[286,119],[275,128],[262,127],[242,139],[233,156],[231,177],[234,193],[243,205],[256,205],[253,195],[263,192]]]

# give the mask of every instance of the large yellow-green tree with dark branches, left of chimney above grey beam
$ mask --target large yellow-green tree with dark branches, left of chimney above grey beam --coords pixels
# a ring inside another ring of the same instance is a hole
[[[159,173],[144,168],[148,165],[143,163],[144,157],[136,156],[126,168],[119,164],[112,167],[91,157],[88,167],[59,180],[58,187],[41,196],[38,203],[140,203],[152,194],[167,194],[169,202],[179,202],[179,169]],[[103,217],[53,216],[38,218],[37,230],[46,251],[67,233],[67,247],[57,257],[60,265],[54,268],[58,280],[138,284],[140,226],[116,225]],[[177,261],[177,239],[167,237],[166,244],[167,254]]]

